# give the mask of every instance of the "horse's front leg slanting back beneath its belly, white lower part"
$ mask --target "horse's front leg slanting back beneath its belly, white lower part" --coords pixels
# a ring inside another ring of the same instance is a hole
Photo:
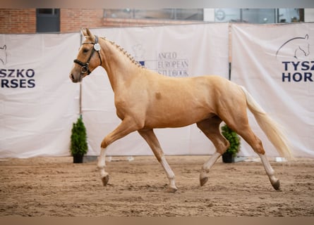
[[[164,153],[162,151],[162,148],[160,147],[159,141],[152,129],[145,129],[145,130],[139,130],[138,133],[140,133],[140,136],[143,136],[143,139],[148,143],[150,148],[152,149],[152,152],[155,154],[158,162],[162,165],[164,168],[164,171],[167,174],[167,177],[169,179],[169,188],[168,191],[171,193],[174,193],[178,190],[176,188],[176,184],[174,181],[174,172],[170,168],[166,158],[164,158]]]

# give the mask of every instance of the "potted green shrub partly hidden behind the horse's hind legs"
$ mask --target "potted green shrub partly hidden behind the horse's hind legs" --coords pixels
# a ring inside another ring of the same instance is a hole
[[[236,153],[240,150],[240,136],[235,131],[231,130],[227,124],[222,126],[222,135],[229,141],[230,147],[222,154],[222,162],[234,162]]]

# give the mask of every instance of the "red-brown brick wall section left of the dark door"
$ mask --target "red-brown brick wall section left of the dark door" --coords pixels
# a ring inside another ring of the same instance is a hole
[[[0,9],[0,34],[36,32],[36,9]]]

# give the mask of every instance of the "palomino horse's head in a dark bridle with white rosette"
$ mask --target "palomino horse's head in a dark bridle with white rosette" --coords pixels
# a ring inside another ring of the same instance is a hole
[[[83,77],[90,75],[97,66],[102,65],[98,37],[93,35],[88,29],[82,30],[82,34],[85,37],[85,41],[80,46],[78,56],[74,60],[74,65],[70,72],[70,79],[74,83],[80,82]],[[97,51],[96,54],[95,51]]]

